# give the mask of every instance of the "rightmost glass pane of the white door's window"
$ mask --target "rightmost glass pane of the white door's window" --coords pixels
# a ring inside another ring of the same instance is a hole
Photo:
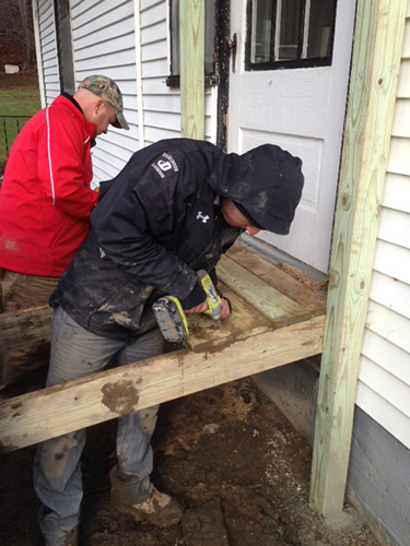
[[[336,0],[311,0],[307,57],[328,57],[331,54]]]

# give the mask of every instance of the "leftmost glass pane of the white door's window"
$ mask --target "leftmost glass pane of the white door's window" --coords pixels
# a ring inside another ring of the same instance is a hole
[[[272,2],[253,0],[250,62],[269,62],[272,37]]]

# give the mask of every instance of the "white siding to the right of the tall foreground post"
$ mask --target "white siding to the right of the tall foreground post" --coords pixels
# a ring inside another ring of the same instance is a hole
[[[410,448],[410,2],[397,91],[358,405]]]

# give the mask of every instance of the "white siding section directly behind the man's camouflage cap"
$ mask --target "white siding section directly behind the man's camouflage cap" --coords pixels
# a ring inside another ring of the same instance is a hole
[[[94,180],[115,177],[138,149],[133,2],[73,0],[71,27],[77,83],[91,74],[112,78],[121,90],[129,131],[108,128],[93,149]]]

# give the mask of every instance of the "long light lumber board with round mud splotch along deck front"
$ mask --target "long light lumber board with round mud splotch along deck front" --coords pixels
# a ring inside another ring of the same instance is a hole
[[[168,353],[0,404],[0,451],[13,451],[203,389],[319,354],[324,317],[219,351]]]

